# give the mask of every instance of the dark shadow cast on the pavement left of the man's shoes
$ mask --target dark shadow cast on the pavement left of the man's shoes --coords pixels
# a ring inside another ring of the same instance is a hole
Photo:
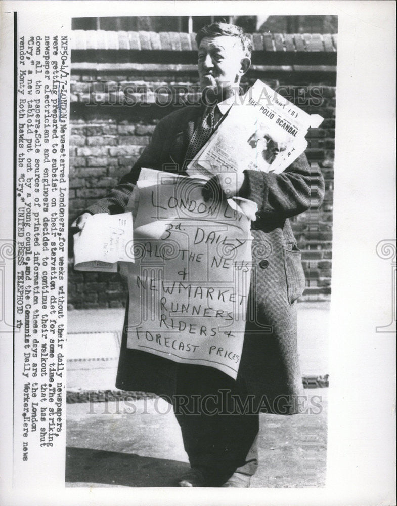
[[[65,482],[80,486],[174,487],[190,470],[178,460],[141,457],[135,453],[66,448]],[[71,485],[73,486],[73,485]]]

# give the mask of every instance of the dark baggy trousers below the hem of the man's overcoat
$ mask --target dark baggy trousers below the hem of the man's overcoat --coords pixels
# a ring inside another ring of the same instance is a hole
[[[192,467],[216,483],[257,468],[259,415],[244,409],[247,388],[212,367],[178,364],[175,416]]]

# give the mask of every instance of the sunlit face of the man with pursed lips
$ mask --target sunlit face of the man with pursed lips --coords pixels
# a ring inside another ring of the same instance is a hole
[[[204,37],[198,51],[201,92],[209,100],[231,96],[249,63],[237,37]]]

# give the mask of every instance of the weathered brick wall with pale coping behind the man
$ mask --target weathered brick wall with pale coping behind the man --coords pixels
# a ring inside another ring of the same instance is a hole
[[[331,291],[336,36],[251,37],[253,65],[244,87],[260,78],[325,118],[321,128],[310,131],[306,151],[324,175],[325,201],[319,210],[293,218],[292,227],[303,250],[307,281],[302,300],[326,299]],[[196,101],[199,93],[190,34],[76,30],[72,48],[69,214],[74,219],[129,172],[159,119],[174,104]],[[68,290],[69,308],[125,303],[126,286],[118,274],[74,272],[71,258]]]

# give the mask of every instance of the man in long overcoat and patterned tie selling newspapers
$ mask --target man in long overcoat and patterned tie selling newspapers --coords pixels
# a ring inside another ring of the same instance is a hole
[[[161,171],[166,165],[168,172],[185,174],[188,161],[228,114],[230,98],[239,94],[241,77],[250,66],[250,40],[241,28],[226,23],[202,28],[196,40],[201,106],[164,117],[131,172],[74,226],[81,229],[90,213],[122,213],[142,167]],[[282,174],[244,170],[237,179],[220,174],[211,183],[228,197],[245,197],[258,206],[251,228],[249,318],[237,379],[212,367],[127,349],[124,330],[116,386],[173,399],[191,464],[191,472],[175,484],[249,487],[257,467],[259,411],[299,411],[296,400],[302,394],[302,380],[294,302],[303,292],[304,275],[288,218],[308,209],[311,202],[321,202],[324,181],[302,154]],[[197,410],[197,399],[204,397],[220,399],[216,409],[213,405]]]

